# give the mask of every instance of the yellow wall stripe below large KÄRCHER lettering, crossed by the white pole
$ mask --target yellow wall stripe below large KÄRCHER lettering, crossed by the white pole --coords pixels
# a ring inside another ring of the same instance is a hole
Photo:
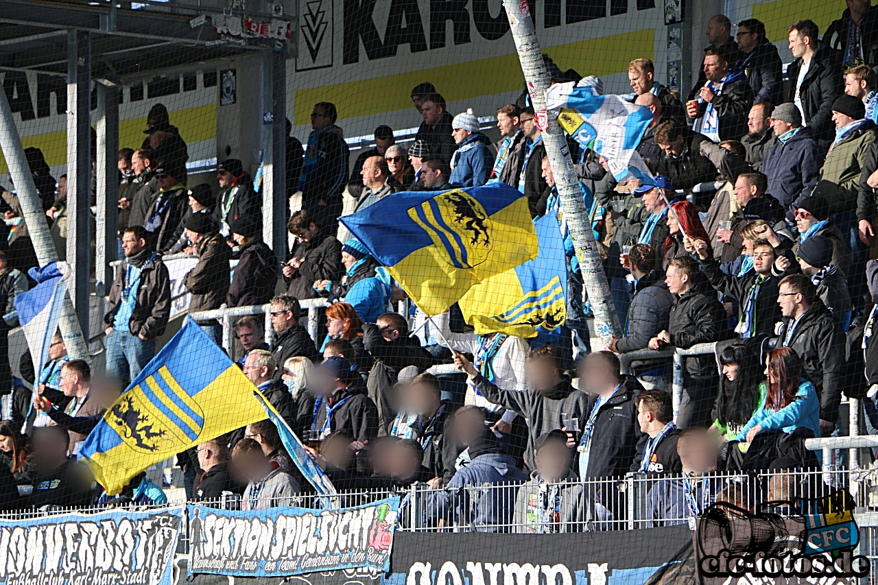
[[[562,69],[572,68],[591,76],[606,76],[626,71],[628,63],[637,57],[651,59],[654,49],[655,30],[650,28],[546,47],[543,52],[549,54]],[[294,124],[310,124],[311,106],[323,101],[335,104],[339,119],[405,110],[412,107],[408,92],[418,83],[427,81],[441,88],[447,101],[523,89],[518,55],[505,54],[395,76],[296,90]],[[380,96],[381,99],[363,96]]]

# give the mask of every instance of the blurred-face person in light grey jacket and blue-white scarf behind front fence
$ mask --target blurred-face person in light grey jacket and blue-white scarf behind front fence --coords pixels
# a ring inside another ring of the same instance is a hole
[[[536,471],[515,496],[514,532],[583,531],[587,519],[586,490],[570,468],[571,455],[563,430],[552,430],[536,439]]]

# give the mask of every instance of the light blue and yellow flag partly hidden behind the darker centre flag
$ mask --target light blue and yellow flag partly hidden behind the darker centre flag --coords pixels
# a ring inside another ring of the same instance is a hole
[[[558,217],[547,213],[534,222],[539,255],[511,271],[486,278],[460,300],[464,319],[479,335],[500,332],[536,337],[564,325],[567,257]]]

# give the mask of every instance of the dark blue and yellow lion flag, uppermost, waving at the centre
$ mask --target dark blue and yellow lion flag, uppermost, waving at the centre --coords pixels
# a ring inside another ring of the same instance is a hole
[[[430,315],[538,249],[528,199],[503,183],[394,193],[341,221]]]

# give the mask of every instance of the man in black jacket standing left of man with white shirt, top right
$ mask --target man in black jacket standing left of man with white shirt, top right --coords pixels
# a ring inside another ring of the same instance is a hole
[[[753,103],[778,105],[783,101],[781,56],[777,47],[766,39],[766,25],[756,18],[738,23],[740,60],[735,69],[744,71],[753,90]],[[758,169],[757,169],[758,170]]]

